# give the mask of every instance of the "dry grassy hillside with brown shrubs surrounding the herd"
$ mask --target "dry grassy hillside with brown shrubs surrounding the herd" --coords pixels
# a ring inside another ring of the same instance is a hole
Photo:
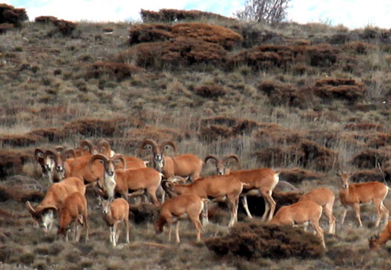
[[[195,243],[183,222],[179,247],[154,235],[156,209],[131,206],[131,245],[112,249],[91,190],[87,244],[38,233],[24,207],[47,188],[34,149],[77,147],[81,139],[105,138],[135,156],[145,138],[173,139],[179,153],[201,158],[235,153],[243,168],[282,170],[300,193],[321,185],[337,194],[338,169],[354,181],[383,181],[378,162],[390,181],[390,30],[271,27],[175,10],[142,15],[153,23],[0,20],[0,268],[389,268],[389,248],[369,252],[367,237],[379,232],[373,207],[362,207],[363,228],[349,212],[341,230],[338,200],[325,251],[301,229],[271,234],[249,223],[241,206],[240,224],[228,231],[219,225],[228,220],[221,205],[211,206],[205,242]],[[300,193],[276,193],[278,207]],[[248,203],[259,218],[263,200]],[[385,205],[391,209],[391,198]]]

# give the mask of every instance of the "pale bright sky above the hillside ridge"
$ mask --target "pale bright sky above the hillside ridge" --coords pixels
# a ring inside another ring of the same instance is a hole
[[[1,0],[0,0],[1,1]],[[4,2],[1,1],[1,2]],[[5,0],[23,7],[31,21],[51,15],[69,21],[140,21],[141,9],[202,10],[233,17],[245,0]],[[391,0],[290,0],[287,21],[343,24],[350,29],[378,26],[391,28]]]

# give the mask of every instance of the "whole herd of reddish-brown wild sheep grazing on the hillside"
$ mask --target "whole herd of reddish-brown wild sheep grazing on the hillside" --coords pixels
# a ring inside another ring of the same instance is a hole
[[[172,147],[175,156],[168,157],[165,150]],[[208,223],[208,203],[224,202],[231,212],[228,226],[238,222],[238,204],[241,199],[249,218],[247,196],[262,196],[265,211],[262,221],[276,225],[311,225],[326,248],[324,231],[319,225],[322,213],[329,222],[328,233],[335,233],[335,217],[332,213],[335,195],[326,187],[320,187],[304,194],[299,202],[282,206],[274,215],[276,202],[272,198],[273,189],[279,182],[279,171],[269,168],[229,171],[230,162],[237,162],[236,155],[217,158],[207,156],[204,160],[193,154],[176,155],[176,144],[164,141],[160,145],[152,139],[144,140],[140,154],[152,151],[152,162],[140,158],[114,153],[106,140],[94,145],[83,140],[80,148],[55,150],[35,150],[35,158],[41,165],[43,177],[49,186],[43,201],[35,208],[29,202],[26,207],[36,223],[48,231],[58,216],[58,232],[61,239],[68,240],[74,231],[73,239],[79,241],[81,227],[85,228],[85,241],[88,241],[88,217],[86,188],[93,187],[100,193],[99,202],[103,217],[110,229],[110,242],[116,246],[119,238],[119,223],[126,227],[126,243],[129,239],[129,203],[131,197],[147,198],[159,205],[160,214],[155,224],[156,233],[163,231],[167,223],[169,241],[172,224],[176,223],[175,239],[179,243],[179,221],[190,219],[197,230],[196,240],[201,238],[202,225]],[[211,162],[216,166],[217,175],[200,178],[203,164]],[[147,167],[151,163],[151,167]],[[389,187],[380,182],[350,184],[350,175],[339,173],[341,181],[339,197],[345,207],[341,225],[344,223],[348,207],[356,212],[360,226],[360,203],[374,203],[377,211],[376,227],[381,219],[387,225],[389,210],[383,201]],[[55,182],[57,180],[57,182]],[[190,183],[186,183],[190,181]],[[130,192],[131,191],[131,192]],[[121,198],[114,199],[116,195]],[[161,204],[159,204],[158,197]],[[170,197],[165,200],[165,197]],[[103,198],[108,198],[104,200]],[[370,248],[379,248],[391,237],[391,225],[379,236],[369,239]]]

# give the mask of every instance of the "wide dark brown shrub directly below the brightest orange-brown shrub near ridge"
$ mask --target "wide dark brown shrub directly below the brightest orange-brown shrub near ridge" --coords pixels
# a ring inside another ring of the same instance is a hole
[[[118,61],[135,63],[138,67],[180,67],[212,64],[222,66],[227,52],[220,45],[190,38],[176,38],[165,42],[132,46],[118,55]]]

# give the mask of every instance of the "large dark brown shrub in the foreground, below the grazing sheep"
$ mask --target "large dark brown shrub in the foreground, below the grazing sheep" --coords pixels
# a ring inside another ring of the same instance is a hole
[[[259,221],[239,223],[226,236],[207,239],[205,245],[217,255],[247,259],[291,256],[313,259],[324,253],[319,238],[312,233],[297,227],[269,225]]]

